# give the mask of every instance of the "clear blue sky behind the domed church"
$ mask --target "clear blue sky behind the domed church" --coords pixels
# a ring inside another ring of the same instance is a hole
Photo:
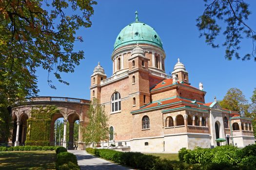
[[[108,77],[112,75],[111,54],[120,30],[135,21],[135,11],[139,20],[153,27],[159,34],[166,53],[166,73],[172,72],[177,58],[189,72],[191,85],[198,88],[199,82],[207,92],[206,102],[214,96],[221,100],[232,87],[243,91],[247,99],[256,87],[256,62],[224,58],[225,48],[213,49],[207,46],[204,38],[199,38],[196,18],[203,13],[203,0],[98,0],[91,17],[91,28],[81,28],[77,36],[84,42],[76,42],[74,51],[83,50],[85,59],[76,67],[74,73],[62,74],[70,85],[54,80],[57,90],[47,84],[47,71],[38,69],[39,96],[59,96],[90,99],[90,76],[98,61]],[[256,1],[246,0],[252,12],[246,21],[256,30]],[[223,28],[225,29],[225,25]],[[221,35],[217,42],[222,44]],[[252,50],[251,40],[243,39],[240,54]]]

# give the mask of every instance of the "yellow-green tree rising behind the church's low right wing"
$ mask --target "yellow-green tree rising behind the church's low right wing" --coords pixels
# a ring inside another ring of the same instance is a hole
[[[242,114],[248,114],[248,101],[245,99],[243,92],[238,88],[230,88],[223,100],[219,102],[221,107],[236,111]]]

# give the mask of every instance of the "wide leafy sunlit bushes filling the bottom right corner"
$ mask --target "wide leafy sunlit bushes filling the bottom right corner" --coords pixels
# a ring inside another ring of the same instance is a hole
[[[248,145],[238,149],[232,145],[216,148],[200,148],[187,150],[182,148],[178,152],[180,161],[188,164],[204,166],[206,170],[254,170],[256,167],[256,145]]]

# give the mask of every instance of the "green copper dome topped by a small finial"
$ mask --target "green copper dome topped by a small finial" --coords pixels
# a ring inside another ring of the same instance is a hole
[[[157,32],[149,25],[138,21],[138,13],[136,11],[135,22],[132,22],[121,30],[114,44],[114,50],[129,44],[142,43],[155,45],[163,49],[162,41]]]

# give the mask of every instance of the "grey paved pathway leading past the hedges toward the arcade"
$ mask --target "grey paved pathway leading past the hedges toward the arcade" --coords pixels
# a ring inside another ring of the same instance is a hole
[[[78,158],[78,165],[81,170],[132,170],[121,165],[95,157],[86,151],[68,150]]]

